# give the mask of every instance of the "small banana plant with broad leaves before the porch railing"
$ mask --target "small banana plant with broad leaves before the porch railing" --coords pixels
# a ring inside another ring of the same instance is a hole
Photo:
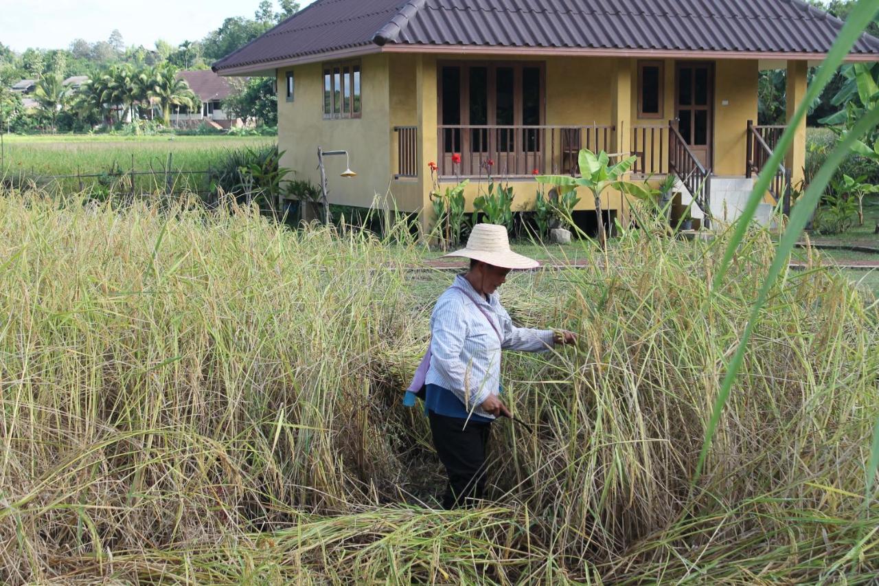
[[[601,212],[601,195],[607,189],[614,188],[624,194],[647,197],[649,193],[637,183],[623,179],[623,176],[635,165],[637,157],[627,157],[616,165],[610,164],[610,156],[604,150],[595,154],[592,150],[580,150],[578,157],[580,177],[570,175],[538,175],[537,182],[556,187],[561,201],[566,194],[578,187],[585,187],[592,193],[595,200],[595,213],[599,221],[599,245],[607,245],[607,229]]]

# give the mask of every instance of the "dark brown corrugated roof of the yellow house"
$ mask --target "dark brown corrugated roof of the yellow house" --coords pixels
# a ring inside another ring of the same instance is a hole
[[[841,27],[801,0],[317,0],[214,70],[369,47],[821,55]],[[852,54],[879,57],[879,40]]]

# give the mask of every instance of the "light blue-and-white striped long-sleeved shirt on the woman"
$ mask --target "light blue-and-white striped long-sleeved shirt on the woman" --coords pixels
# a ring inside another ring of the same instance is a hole
[[[479,406],[490,394],[498,394],[501,349],[541,352],[553,348],[552,330],[513,326],[497,292],[486,301],[461,275],[439,296],[431,315],[431,334],[432,357],[425,384],[448,389],[470,413],[489,419],[494,415]]]

